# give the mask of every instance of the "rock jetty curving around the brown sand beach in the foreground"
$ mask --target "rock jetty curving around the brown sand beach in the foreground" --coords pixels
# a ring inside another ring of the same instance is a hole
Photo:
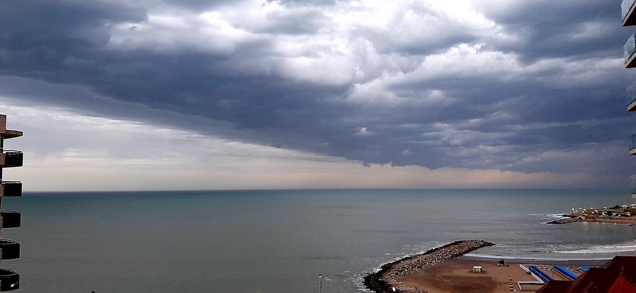
[[[401,293],[424,293],[425,291],[422,292],[406,286],[401,282],[402,278],[446,259],[452,259],[481,247],[493,245],[495,243],[483,240],[462,240],[449,243],[417,256],[405,257],[399,261],[384,264],[377,273],[364,276],[364,285],[377,293],[393,293],[393,287],[395,287],[396,292]]]

